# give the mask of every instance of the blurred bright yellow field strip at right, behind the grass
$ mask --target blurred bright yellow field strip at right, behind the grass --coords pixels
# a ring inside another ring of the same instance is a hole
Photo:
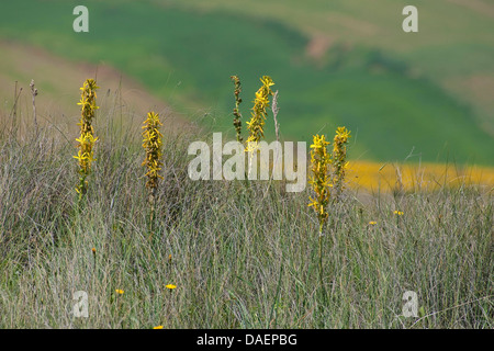
[[[444,188],[479,185],[494,186],[494,168],[457,165],[398,165],[389,162],[350,161],[348,183],[352,189],[370,192],[437,191]]]

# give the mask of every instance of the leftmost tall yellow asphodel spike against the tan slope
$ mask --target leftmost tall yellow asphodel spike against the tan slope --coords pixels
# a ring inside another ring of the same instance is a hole
[[[79,194],[79,200],[88,191],[88,176],[91,172],[91,163],[94,161],[94,144],[98,140],[94,137],[94,128],[92,126],[94,120],[96,104],[98,87],[93,79],[87,79],[80,88],[81,98],[78,105],[81,106],[81,117],[78,125],[80,126],[80,136],[76,139],[78,141],[79,151],[77,156],[74,156],[79,161],[79,184],[76,188]]]

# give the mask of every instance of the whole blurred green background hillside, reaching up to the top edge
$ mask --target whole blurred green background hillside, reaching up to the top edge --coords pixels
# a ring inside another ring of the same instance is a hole
[[[492,45],[483,13],[472,10],[446,31],[439,24],[461,12],[424,4],[429,11],[420,12],[420,30],[434,35],[413,37],[401,32],[398,4],[390,1],[379,11],[351,1],[311,1],[303,8],[294,1],[150,3],[88,1],[89,34],[71,31],[74,1],[2,3],[0,37],[71,60],[112,65],[179,114],[213,129],[232,129],[231,75],[243,79],[245,117],[258,78],[270,75],[280,90],[285,138],[308,140],[345,124],[355,135],[353,158],[402,160],[413,149],[414,160],[494,162],[491,120],[482,117],[474,100],[454,95],[464,89],[445,89],[446,82],[463,81],[461,75],[480,73],[475,69],[485,68],[489,77],[492,67],[483,64]],[[469,33],[462,32],[464,24]],[[471,89],[468,94],[476,97]],[[271,121],[267,131],[272,137]]]

